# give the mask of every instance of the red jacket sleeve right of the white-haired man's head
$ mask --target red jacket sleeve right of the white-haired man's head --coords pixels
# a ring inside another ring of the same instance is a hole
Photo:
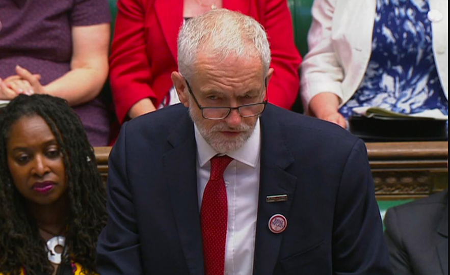
[[[294,42],[292,17],[286,0],[268,0],[264,22],[272,50],[274,75],[269,85],[269,102],[290,109],[300,87],[299,68],[302,62]]]

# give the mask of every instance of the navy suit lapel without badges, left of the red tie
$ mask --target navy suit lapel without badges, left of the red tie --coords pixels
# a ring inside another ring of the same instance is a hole
[[[203,275],[203,248],[197,194],[197,146],[194,126],[187,112],[180,119],[176,130],[169,136],[169,143],[174,148],[163,156],[163,161],[181,246],[190,273]]]

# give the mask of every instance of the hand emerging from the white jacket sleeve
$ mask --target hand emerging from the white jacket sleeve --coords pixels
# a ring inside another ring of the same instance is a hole
[[[316,118],[335,123],[347,129],[346,119],[339,114],[339,97],[333,93],[321,93],[309,102],[309,111]]]

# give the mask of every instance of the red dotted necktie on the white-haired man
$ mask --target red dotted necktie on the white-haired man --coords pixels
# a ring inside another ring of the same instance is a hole
[[[232,160],[228,156],[211,158],[211,174],[201,207],[205,275],[222,275],[225,270],[228,199],[223,173]]]

